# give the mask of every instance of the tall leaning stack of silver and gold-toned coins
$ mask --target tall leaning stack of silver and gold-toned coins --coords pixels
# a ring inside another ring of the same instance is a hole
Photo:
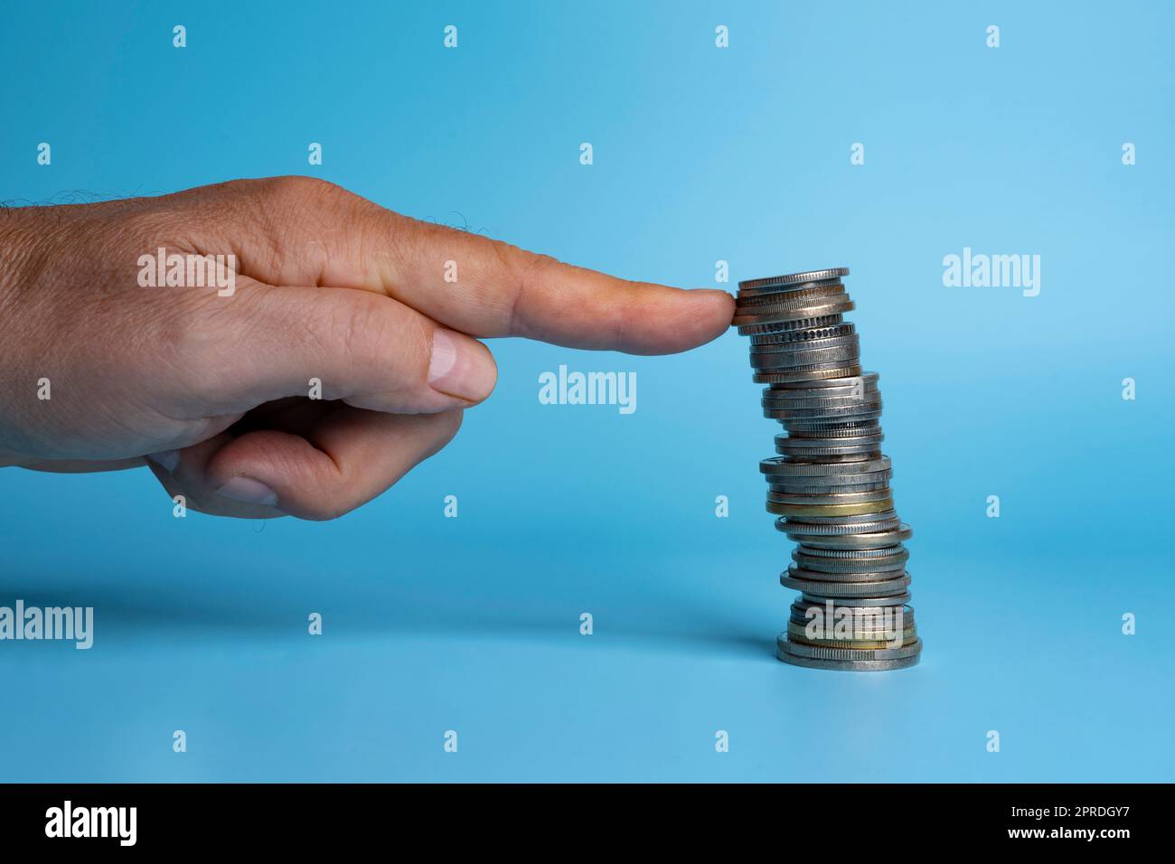
[[[878,374],[861,371],[853,301],[838,267],[739,282],[734,324],[751,337],[778,456],[760,463],[767,511],[799,545],[780,582],[801,592],[776,655],[815,669],[902,669],[922,643],[909,601],[909,527],[881,454]]]

